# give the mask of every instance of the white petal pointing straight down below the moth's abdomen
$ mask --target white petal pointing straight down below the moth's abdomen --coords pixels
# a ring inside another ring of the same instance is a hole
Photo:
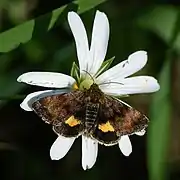
[[[91,138],[82,136],[82,167],[90,169],[96,162],[98,143]]]

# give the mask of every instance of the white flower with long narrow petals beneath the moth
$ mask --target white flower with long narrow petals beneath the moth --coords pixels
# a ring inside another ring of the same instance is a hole
[[[17,80],[30,85],[37,85],[51,88],[66,88],[66,90],[48,90],[46,96],[54,93],[69,92],[76,83],[79,86],[89,87],[94,79],[99,88],[108,95],[120,96],[137,93],[151,93],[158,91],[160,86],[156,79],[150,76],[128,77],[140,69],[147,62],[147,53],[137,51],[131,54],[127,60],[122,61],[109,70],[100,73],[100,67],[105,59],[108,40],[109,22],[107,16],[97,11],[94,19],[92,40],[89,48],[88,38],[82,20],[75,12],[68,13],[68,22],[72,30],[79,61],[80,81],[62,73],[52,72],[28,72],[22,74]],[[32,111],[32,103],[45,96],[44,91],[29,94],[21,104],[21,108]],[[122,102],[124,103],[124,102]],[[127,105],[127,104],[126,104]],[[143,135],[145,131],[137,132]],[[63,158],[71,148],[75,138],[58,136],[51,147],[50,156],[54,160]],[[128,135],[122,136],[119,141],[119,148],[125,156],[132,152],[132,146]],[[82,136],[82,166],[83,169],[90,169],[97,158],[98,143],[91,138]]]

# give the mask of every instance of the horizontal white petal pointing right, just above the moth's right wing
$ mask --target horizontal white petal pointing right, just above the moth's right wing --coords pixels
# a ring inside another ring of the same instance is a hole
[[[117,83],[100,85],[101,90],[109,95],[125,95],[151,93],[158,91],[160,86],[151,76],[136,76],[123,79]]]

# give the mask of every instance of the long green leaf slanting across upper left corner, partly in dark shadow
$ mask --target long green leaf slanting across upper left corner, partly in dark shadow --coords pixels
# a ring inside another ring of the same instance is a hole
[[[0,34],[0,52],[9,52],[21,43],[26,43],[35,37],[45,36],[49,30],[61,24],[65,18],[67,20],[67,12],[77,9],[77,6],[78,13],[83,13],[104,1],[77,0],[5,31]]]

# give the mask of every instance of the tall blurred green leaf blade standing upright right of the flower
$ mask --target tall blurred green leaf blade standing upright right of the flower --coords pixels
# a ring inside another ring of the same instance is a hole
[[[150,125],[148,128],[148,162],[150,180],[167,179],[167,154],[170,136],[170,75],[171,59],[168,56],[159,82],[161,89],[155,93],[151,104]]]

